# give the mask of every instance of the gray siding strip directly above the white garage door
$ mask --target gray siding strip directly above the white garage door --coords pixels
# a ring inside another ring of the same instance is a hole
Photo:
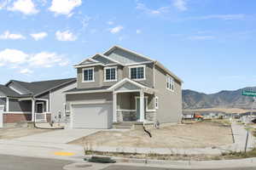
[[[112,101],[112,93],[95,93],[95,94],[67,94],[66,95],[66,104],[67,111],[69,111],[70,103],[97,103],[97,102],[106,102]]]

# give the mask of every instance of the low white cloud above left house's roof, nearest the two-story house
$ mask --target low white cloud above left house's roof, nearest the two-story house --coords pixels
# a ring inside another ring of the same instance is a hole
[[[41,52],[33,55],[31,59],[29,59],[29,64],[32,66],[52,67],[61,61],[62,57],[58,54]]]

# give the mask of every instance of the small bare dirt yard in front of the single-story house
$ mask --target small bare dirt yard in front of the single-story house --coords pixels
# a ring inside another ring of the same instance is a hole
[[[16,139],[37,133],[52,131],[50,129],[38,128],[2,128],[0,129],[0,139]]]

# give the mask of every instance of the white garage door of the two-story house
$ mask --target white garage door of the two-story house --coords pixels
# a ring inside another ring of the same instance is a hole
[[[113,122],[112,104],[72,105],[73,128],[110,128]]]

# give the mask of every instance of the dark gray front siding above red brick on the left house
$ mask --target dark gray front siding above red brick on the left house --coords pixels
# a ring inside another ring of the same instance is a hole
[[[31,112],[32,101],[19,101],[18,99],[9,99],[9,112],[11,113],[11,111]]]

